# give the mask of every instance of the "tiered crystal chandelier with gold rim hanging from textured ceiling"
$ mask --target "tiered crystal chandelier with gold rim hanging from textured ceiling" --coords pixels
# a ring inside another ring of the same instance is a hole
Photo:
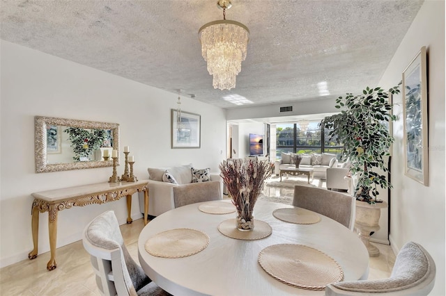
[[[223,10],[223,20],[209,22],[198,31],[201,55],[213,75],[213,87],[230,90],[236,87],[236,77],[246,58],[249,30],[244,24],[226,20],[226,9],[232,6],[230,0],[219,0],[217,6]]]

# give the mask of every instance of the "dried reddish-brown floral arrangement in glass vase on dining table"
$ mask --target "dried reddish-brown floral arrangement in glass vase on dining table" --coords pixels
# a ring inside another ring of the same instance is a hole
[[[235,159],[223,161],[220,171],[224,185],[237,209],[236,227],[242,231],[254,229],[254,205],[263,187],[271,176],[272,167],[268,161]]]

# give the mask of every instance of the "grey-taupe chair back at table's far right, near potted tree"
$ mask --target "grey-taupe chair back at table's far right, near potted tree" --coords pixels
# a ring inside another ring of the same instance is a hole
[[[342,192],[309,186],[294,186],[293,206],[320,213],[353,230],[355,198]]]

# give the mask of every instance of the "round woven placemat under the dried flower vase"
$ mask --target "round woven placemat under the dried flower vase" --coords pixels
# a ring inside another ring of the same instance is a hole
[[[228,219],[218,225],[218,231],[229,238],[236,238],[237,240],[260,240],[270,236],[272,228],[270,224],[254,219],[253,230],[240,231],[236,227],[236,219]]]

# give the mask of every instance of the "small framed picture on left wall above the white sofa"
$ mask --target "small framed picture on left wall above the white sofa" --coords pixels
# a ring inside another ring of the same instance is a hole
[[[171,117],[172,149],[200,148],[201,116],[172,109]]]

